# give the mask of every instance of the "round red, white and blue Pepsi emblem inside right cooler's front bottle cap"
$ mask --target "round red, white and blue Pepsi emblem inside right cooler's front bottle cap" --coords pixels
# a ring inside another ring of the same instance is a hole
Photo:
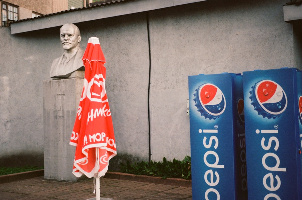
[[[274,81],[263,80],[255,87],[260,107],[268,114],[280,115],[287,107],[287,97],[282,87]]]

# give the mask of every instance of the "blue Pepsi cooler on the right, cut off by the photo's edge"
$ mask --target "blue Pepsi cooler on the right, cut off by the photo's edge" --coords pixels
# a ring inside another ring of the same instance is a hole
[[[302,72],[243,72],[249,199],[302,199]]]

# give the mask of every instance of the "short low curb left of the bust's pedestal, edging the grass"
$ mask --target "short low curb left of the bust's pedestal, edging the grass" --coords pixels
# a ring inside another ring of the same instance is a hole
[[[37,176],[44,176],[44,170],[35,170],[35,171],[3,175],[0,176],[0,183],[8,183],[12,181],[30,179]]]

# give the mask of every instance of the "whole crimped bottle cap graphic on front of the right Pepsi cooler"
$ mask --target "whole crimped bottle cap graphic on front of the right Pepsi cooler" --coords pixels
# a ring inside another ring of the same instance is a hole
[[[263,118],[275,119],[287,107],[287,97],[282,87],[274,81],[262,80],[252,86],[250,91],[254,110]]]

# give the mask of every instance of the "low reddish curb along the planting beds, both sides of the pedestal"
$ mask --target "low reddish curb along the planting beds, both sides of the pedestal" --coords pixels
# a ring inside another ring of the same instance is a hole
[[[3,175],[0,176],[0,183],[8,183],[12,181],[30,179],[38,176],[44,176],[44,170],[35,170],[35,171]],[[192,187],[191,180],[178,179],[178,178],[162,179],[160,177],[155,177],[155,176],[144,176],[144,175],[138,176],[135,174],[120,173],[120,172],[106,172],[104,178],[139,181],[139,182],[155,183],[155,184],[162,184],[162,185]]]

